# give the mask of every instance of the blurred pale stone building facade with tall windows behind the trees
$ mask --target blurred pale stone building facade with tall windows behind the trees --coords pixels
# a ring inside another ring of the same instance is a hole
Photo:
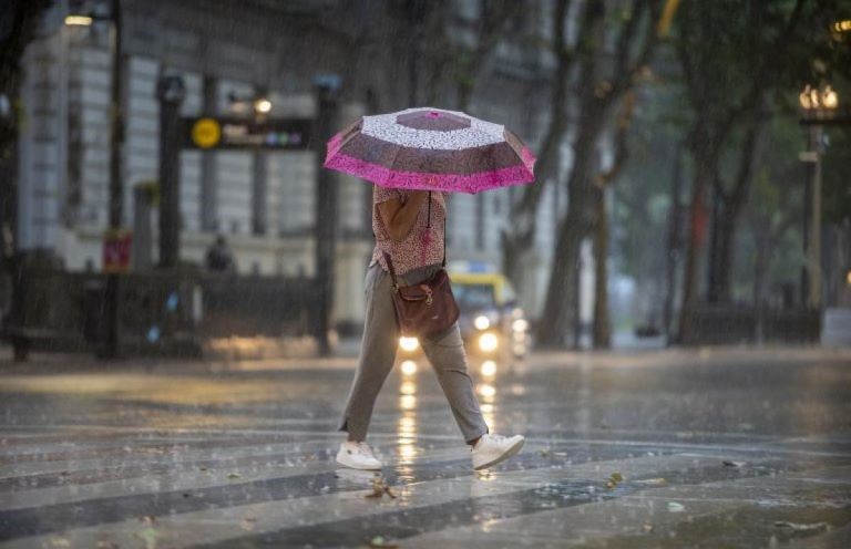
[[[537,11],[530,24],[548,29],[548,3],[532,4]],[[399,34],[392,28],[398,21],[385,2],[124,0],[121,6],[126,227],[140,222],[134,219],[134,189],[157,178],[155,90],[161,74],[183,77],[185,116],[245,114],[246,104],[263,95],[271,102],[271,116],[311,117],[317,74],[341,76],[340,124],[407,106],[409,91],[396,77],[396,46],[387,42]],[[469,40],[479,2],[457,0],[451,6],[457,17],[450,37]],[[58,0],[27,52],[18,234],[21,248],[53,250],[70,270],[99,270],[109,218],[115,29],[109,20],[64,24],[65,15],[73,13],[109,19],[109,2]],[[375,32],[372,42],[365,39]],[[532,59],[511,43],[500,43],[494,56],[500,69],[483,73],[468,111],[504,122],[534,148],[547,116],[541,79],[550,60],[540,52]],[[439,101],[435,106],[444,105]],[[564,156],[568,159],[568,149]],[[182,260],[203,262],[221,234],[240,273],[311,276],[314,228],[331,221],[315,219],[317,166],[312,152],[182,152]],[[371,187],[340,179],[340,209],[334,220],[339,224],[335,319],[357,324],[363,314],[362,277],[372,246]],[[449,257],[501,265],[500,236],[514,193],[517,189],[452,196]],[[530,276],[519,288],[521,304],[532,314],[544,299],[564,195],[551,185],[542,200]],[[154,228],[156,242],[155,209],[151,216],[145,221]],[[154,246],[150,252],[156,261]]]

